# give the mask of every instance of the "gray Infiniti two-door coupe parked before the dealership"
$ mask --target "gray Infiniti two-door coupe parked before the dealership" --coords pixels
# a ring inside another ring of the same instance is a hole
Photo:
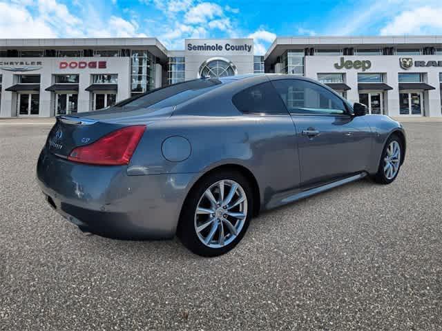
[[[81,230],[177,234],[192,252],[215,256],[260,210],[366,176],[392,183],[405,132],[366,112],[293,75],[186,81],[57,117],[37,178],[52,208]]]

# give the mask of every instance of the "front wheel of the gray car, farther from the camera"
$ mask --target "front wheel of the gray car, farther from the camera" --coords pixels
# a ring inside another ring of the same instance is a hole
[[[374,180],[381,184],[390,184],[396,179],[401,168],[402,141],[398,136],[393,135],[385,143],[382,152],[381,162]]]

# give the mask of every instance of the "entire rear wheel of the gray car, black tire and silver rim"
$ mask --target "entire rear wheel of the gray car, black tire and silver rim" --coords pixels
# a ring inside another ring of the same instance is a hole
[[[249,182],[237,172],[203,178],[183,205],[177,234],[195,254],[215,257],[244,237],[253,210]]]

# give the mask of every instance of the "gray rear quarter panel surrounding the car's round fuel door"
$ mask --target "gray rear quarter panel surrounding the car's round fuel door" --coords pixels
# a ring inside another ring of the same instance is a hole
[[[181,162],[162,155],[169,137],[184,137],[191,153]],[[198,173],[221,165],[241,165],[258,181],[261,205],[275,194],[296,190],[300,181],[296,131],[287,115],[235,117],[173,116],[146,129],[128,165],[129,175]]]

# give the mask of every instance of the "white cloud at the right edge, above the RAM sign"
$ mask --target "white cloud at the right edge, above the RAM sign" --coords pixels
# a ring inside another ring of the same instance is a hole
[[[381,34],[436,34],[442,32],[441,8],[421,7],[398,14]]]

